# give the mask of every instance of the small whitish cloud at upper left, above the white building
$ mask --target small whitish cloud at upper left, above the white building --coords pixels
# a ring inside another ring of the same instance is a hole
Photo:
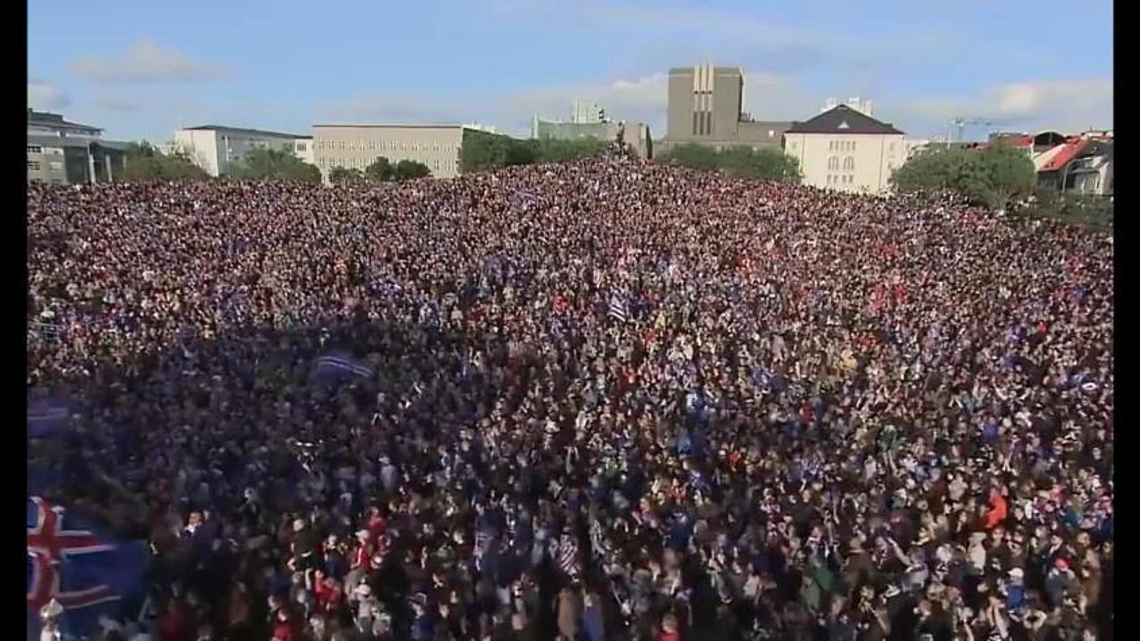
[[[72,71],[97,82],[148,84],[215,80],[225,70],[195,60],[153,40],[139,40],[115,56],[85,56],[72,63]]]

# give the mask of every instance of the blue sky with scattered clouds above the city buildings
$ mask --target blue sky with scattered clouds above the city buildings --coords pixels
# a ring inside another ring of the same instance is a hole
[[[915,137],[954,115],[1113,124],[1108,0],[30,0],[27,29],[30,105],[116,139],[206,123],[523,133],[575,98],[662,136],[669,67],[705,62],[744,70],[757,119],[860,96]]]

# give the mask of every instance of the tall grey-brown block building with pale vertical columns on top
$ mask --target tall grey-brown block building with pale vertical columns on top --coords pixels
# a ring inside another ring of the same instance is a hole
[[[744,73],[740,67],[701,65],[669,70],[666,137],[669,146],[698,144],[723,149],[734,146],[780,147],[788,121],[754,121],[743,112]]]

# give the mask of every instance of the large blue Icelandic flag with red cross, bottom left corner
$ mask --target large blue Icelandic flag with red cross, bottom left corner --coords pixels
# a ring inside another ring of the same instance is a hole
[[[142,591],[149,552],[141,541],[114,541],[39,496],[27,500],[27,634],[39,639],[40,611],[63,609],[64,639],[96,634],[101,617],[124,611]],[[54,608],[55,606],[52,606]]]

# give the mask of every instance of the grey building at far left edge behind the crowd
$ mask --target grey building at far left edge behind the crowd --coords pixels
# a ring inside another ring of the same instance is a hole
[[[27,109],[27,181],[47,185],[107,182],[123,168],[127,144],[59,114]]]

